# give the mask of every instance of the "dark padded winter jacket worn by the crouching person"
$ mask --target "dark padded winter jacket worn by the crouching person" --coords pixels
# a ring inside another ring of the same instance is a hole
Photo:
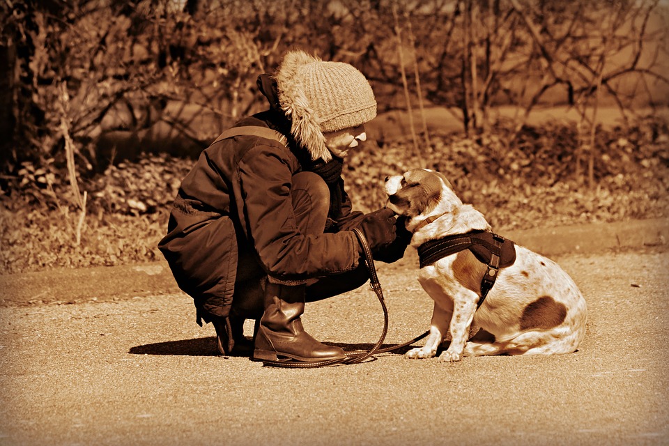
[[[270,105],[272,104],[272,98]],[[360,220],[346,192],[338,215],[321,236],[300,233],[293,218],[291,178],[312,167],[305,148],[286,132],[285,117],[272,108],[236,126],[272,128],[289,137],[238,136],[206,148],[183,179],[159,244],[178,285],[194,298],[214,296],[229,305],[235,289],[238,253],[254,252],[272,282],[294,284],[311,277],[352,270],[359,261],[351,231]],[[343,185],[343,181],[340,183]]]

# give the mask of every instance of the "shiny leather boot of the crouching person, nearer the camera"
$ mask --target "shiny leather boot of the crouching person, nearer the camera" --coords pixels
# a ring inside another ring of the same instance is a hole
[[[305,285],[267,284],[254,360],[318,362],[346,357],[341,348],[321,344],[305,332],[300,318],[305,312],[305,289]]]

